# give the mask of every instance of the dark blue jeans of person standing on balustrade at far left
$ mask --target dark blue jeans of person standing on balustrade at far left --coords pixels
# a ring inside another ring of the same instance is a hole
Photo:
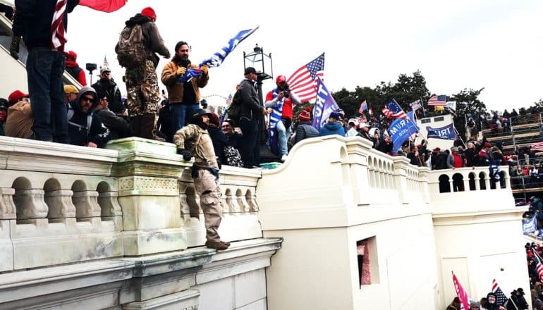
[[[32,49],[26,61],[32,131],[37,139],[68,143],[67,108],[63,99],[64,55],[50,49]]]

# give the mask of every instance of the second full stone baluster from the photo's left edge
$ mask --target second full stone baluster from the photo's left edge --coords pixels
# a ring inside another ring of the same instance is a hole
[[[51,223],[75,223],[75,206],[72,202],[73,191],[51,190],[45,192],[44,201],[49,206],[47,218]]]

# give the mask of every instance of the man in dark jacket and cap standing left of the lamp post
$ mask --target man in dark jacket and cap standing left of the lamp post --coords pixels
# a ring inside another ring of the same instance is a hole
[[[239,125],[241,132],[243,132],[240,153],[245,168],[257,168],[260,164],[258,122],[260,116],[268,113],[258,100],[255,87],[257,78],[257,70],[247,67],[245,68],[245,80],[240,83],[241,109]]]

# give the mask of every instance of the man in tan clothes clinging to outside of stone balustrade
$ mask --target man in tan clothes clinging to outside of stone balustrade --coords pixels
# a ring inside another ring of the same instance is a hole
[[[228,249],[230,242],[221,241],[217,230],[221,225],[221,190],[219,188],[219,166],[207,126],[211,113],[203,109],[196,110],[186,125],[173,135],[173,143],[177,152],[183,155],[184,161],[190,161],[194,155],[193,179],[194,187],[200,196],[200,206],[205,216],[206,247],[212,249]]]

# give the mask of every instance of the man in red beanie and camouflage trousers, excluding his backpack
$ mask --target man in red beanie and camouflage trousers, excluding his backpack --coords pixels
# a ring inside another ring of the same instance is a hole
[[[147,54],[145,63],[136,68],[126,68],[125,84],[126,106],[130,116],[130,129],[136,137],[161,140],[157,136],[157,120],[159,111],[159,83],[155,72],[159,64],[158,53],[164,58],[170,58],[170,52],[164,46],[164,41],[159,34],[157,25],[157,14],[151,7],[144,8],[141,13],[136,14],[126,21],[126,27],[140,26],[143,43]],[[118,52],[118,44],[115,46]]]

